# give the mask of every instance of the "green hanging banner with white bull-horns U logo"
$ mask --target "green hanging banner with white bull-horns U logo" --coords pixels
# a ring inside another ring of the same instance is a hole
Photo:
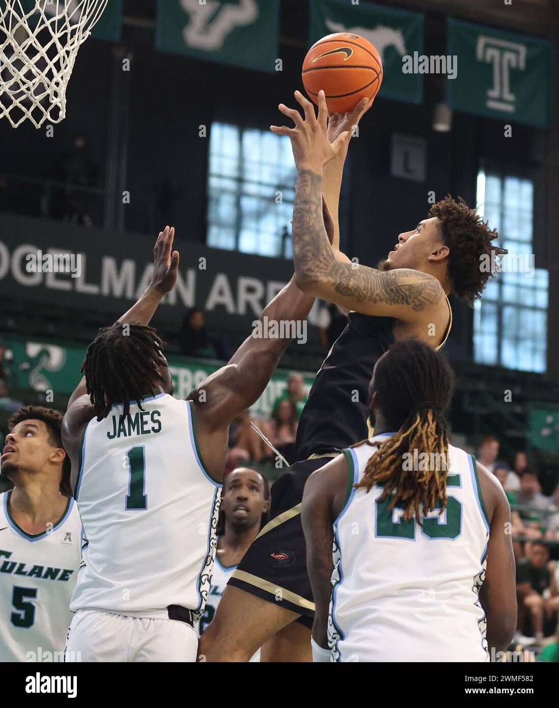
[[[276,0],[159,0],[156,47],[219,64],[274,72]]]

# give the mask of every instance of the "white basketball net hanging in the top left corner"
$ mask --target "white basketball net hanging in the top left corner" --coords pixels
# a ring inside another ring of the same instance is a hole
[[[108,0],[0,0],[0,118],[35,127],[66,117],[82,42]]]

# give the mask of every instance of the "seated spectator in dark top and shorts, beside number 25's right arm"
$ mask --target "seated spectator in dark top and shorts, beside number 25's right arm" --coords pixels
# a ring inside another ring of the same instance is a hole
[[[527,557],[517,563],[517,641],[521,644],[529,643],[529,638],[523,636],[528,619],[536,641],[541,642],[544,620],[557,614],[559,591],[554,573],[555,561],[550,562],[546,544],[542,541],[531,543]],[[546,590],[550,592],[546,593],[547,597],[544,598]]]

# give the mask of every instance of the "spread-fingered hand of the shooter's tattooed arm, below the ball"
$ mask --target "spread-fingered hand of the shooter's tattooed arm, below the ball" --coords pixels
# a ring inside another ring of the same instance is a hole
[[[288,108],[287,105],[280,103],[280,111],[293,120],[295,127],[271,125],[270,130],[276,135],[289,135],[295,164],[299,171],[310,169],[321,173],[327,162],[347,149],[352,131],[340,132],[340,135],[330,142],[328,139],[328,108],[324,91],[318,93],[318,116],[315,115],[311,101],[307,101],[300,91],[295,91],[295,98],[304,110],[304,118],[299,110]]]

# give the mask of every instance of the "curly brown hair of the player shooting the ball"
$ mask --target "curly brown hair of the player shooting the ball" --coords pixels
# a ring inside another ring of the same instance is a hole
[[[473,307],[490,276],[495,275],[495,258],[505,256],[508,251],[491,243],[499,236],[497,229],[490,229],[461,197],[454,200],[446,195],[432,205],[429,216],[439,219],[442,240],[450,249],[448,268],[452,290],[456,297]],[[489,261],[488,268],[482,267],[484,261]]]

